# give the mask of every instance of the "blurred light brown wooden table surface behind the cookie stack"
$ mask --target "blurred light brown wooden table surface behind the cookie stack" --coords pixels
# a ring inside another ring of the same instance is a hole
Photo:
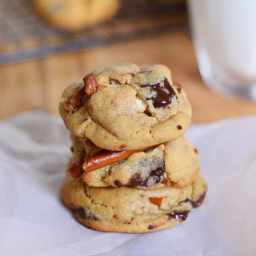
[[[255,103],[217,96],[203,85],[189,36],[176,33],[1,66],[0,118],[35,108],[58,114],[64,88],[94,67],[120,62],[158,63],[170,67],[173,80],[181,83],[188,93],[194,123],[256,114]]]

